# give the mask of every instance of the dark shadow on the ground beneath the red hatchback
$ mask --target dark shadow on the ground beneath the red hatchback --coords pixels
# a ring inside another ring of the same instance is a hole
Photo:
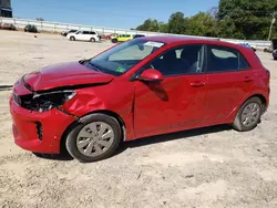
[[[217,126],[212,126],[212,127],[204,127],[204,128],[196,128],[196,129],[170,133],[170,134],[164,134],[164,135],[158,135],[158,136],[143,137],[143,138],[138,138],[136,141],[130,141],[130,142],[122,143],[113,156],[119,155],[129,148],[137,148],[137,147],[143,147],[146,145],[165,143],[165,142],[177,141],[177,139],[189,139],[193,137],[197,138],[197,136],[202,136],[205,134],[217,133],[217,132],[223,132],[223,131],[230,131],[230,129],[232,129],[232,127],[229,125],[217,125]],[[43,158],[43,159],[62,160],[62,162],[73,160],[73,157],[71,157],[71,155],[65,149],[63,149],[60,155],[38,154],[38,153],[33,153],[33,154],[37,157]]]

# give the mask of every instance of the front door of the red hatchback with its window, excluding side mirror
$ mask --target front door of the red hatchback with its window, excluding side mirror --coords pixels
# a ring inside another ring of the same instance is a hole
[[[134,128],[137,137],[201,126],[206,97],[202,73],[204,45],[171,49],[146,64],[164,79],[135,81]]]

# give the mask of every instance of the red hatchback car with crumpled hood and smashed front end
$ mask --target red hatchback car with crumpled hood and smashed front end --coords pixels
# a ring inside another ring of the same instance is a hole
[[[25,74],[13,86],[16,143],[80,162],[122,141],[217,124],[250,131],[269,100],[269,76],[247,48],[179,37],[134,39],[90,60]]]

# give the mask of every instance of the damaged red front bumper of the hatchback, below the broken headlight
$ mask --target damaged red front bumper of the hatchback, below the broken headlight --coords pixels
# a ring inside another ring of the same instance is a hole
[[[25,92],[23,85],[16,85],[13,93]],[[64,131],[75,121],[75,117],[53,108],[43,113],[25,110],[10,97],[10,113],[12,117],[12,132],[14,142],[23,149],[59,154],[60,143]]]

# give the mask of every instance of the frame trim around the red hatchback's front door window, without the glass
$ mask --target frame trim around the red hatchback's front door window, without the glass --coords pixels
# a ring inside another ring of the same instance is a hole
[[[173,48],[166,49],[165,51],[163,51],[162,53],[158,53],[155,58],[153,58],[152,60],[150,60],[147,63],[145,63],[140,70],[137,70],[133,76],[131,76],[131,81],[137,80],[137,76],[141,75],[145,70],[144,69],[146,65],[148,65],[151,62],[153,62],[155,59],[158,59],[161,56],[163,56],[166,52],[171,51],[171,50],[177,50],[179,48],[186,46],[186,45],[202,45],[203,46],[203,59],[202,59],[202,66],[201,66],[201,73],[184,73],[184,74],[171,74],[171,75],[163,75],[163,77],[175,77],[175,76],[185,76],[185,75],[203,75],[205,74],[205,69],[207,66],[206,64],[206,44],[204,43],[184,43],[184,44],[178,44],[175,45]]]

